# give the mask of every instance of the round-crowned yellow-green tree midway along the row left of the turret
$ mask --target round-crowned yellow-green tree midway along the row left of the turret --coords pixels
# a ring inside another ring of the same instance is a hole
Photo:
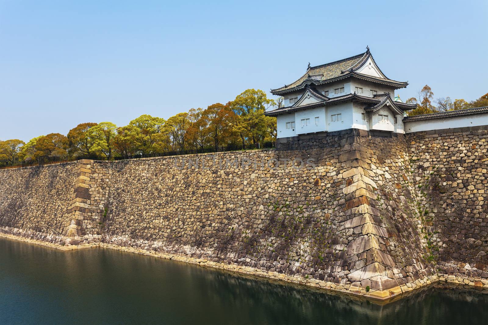
[[[144,114],[130,121],[129,125],[132,126],[129,134],[133,136],[133,141],[138,151],[142,154],[153,153],[153,145],[158,141],[159,133],[164,125],[164,119]]]

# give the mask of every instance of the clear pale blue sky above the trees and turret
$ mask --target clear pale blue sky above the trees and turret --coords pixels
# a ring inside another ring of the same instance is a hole
[[[488,92],[487,17],[487,0],[0,0],[0,139],[168,118],[366,45],[408,80],[403,100],[425,84],[473,100]]]

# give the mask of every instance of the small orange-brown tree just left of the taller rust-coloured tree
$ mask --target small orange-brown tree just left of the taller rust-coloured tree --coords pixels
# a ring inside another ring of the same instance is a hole
[[[39,162],[47,158],[65,159],[68,156],[68,138],[59,133],[50,133],[37,139],[33,159]]]

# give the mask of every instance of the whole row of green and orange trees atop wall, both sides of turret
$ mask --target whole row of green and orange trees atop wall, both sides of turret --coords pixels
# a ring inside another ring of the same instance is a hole
[[[407,102],[417,104],[407,114],[418,115],[488,106],[488,94],[473,101],[435,98],[432,89],[425,85]],[[282,103],[283,98],[276,103],[262,90],[247,89],[225,104],[192,108],[167,120],[143,114],[121,127],[112,122],[85,122],[69,130],[67,136],[51,133],[27,143],[0,140],[0,166],[80,157],[110,160],[205,148],[232,149],[275,141],[276,118],[265,116],[264,112]]]

